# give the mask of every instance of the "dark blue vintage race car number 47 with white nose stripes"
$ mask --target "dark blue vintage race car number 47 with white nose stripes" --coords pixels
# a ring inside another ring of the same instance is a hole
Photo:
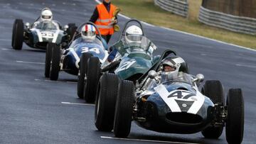
[[[166,55],[166,53],[164,53]],[[162,60],[163,55],[160,59]],[[160,62],[159,61],[159,62]],[[203,85],[203,74],[196,77],[183,70],[176,77],[161,72],[159,63],[134,83],[104,74],[95,106],[95,125],[127,137],[131,123],[160,133],[197,133],[219,138],[225,126],[228,143],[241,143],[244,103],[241,89],[229,89],[224,101],[223,85],[210,80]],[[108,83],[112,80],[112,84]],[[108,90],[108,89],[111,89]]]

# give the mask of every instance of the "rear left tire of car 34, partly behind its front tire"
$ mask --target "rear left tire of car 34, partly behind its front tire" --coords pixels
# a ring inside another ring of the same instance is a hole
[[[46,45],[46,65],[45,65],[45,77],[50,77],[50,61],[52,57],[54,43],[48,43]]]

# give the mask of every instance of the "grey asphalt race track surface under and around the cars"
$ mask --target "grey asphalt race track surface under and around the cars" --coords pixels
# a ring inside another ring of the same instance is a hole
[[[94,106],[76,96],[77,77],[60,72],[57,82],[45,79],[45,52],[23,45],[11,48],[15,18],[32,23],[45,6],[60,23],[82,23],[90,18],[92,0],[0,1],[0,143],[226,143],[225,131],[218,140],[201,133],[178,135],[146,131],[132,126],[127,140],[112,138],[94,126]],[[119,17],[122,26],[127,19]],[[170,20],[171,21],[171,20]],[[159,47],[155,54],[173,48],[188,62],[191,74],[219,79],[225,87],[240,87],[245,99],[243,143],[255,143],[256,52],[193,35],[144,25],[146,35]],[[112,37],[117,40],[119,33]]]

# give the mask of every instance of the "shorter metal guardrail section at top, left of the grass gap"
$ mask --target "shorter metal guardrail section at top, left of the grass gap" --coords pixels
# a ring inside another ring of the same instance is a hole
[[[188,1],[187,0],[154,0],[154,4],[161,9],[170,11],[180,16],[188,16]]]

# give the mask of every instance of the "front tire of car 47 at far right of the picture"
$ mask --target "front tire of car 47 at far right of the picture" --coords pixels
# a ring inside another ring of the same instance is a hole
[[[226,139],[228,143],[242,143],[245,106],[241,89],[229,89],[227,105]]]

